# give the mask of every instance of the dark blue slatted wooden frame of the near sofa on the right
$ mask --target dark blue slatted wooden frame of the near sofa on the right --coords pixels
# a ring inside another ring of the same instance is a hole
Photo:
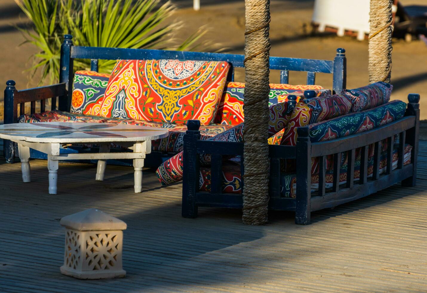
[[[296,146],[270,145],[269,208],[272,210],[295,211],[295,223],[310,224],[310,213],[328,207],[335,207],[348,201],[375,193],[379,190],[402,182],[402,186],[414,186],[417,175],[419,100],[418,94],[408,95],[409,104],[405,116],[397,121],[363,133],[346,136],[325,142],[310,142],[309,128],[298,127]],[[184,173],[182,187],[182,216],[195,218],[198,207],[242,208],[243,196],[222,192],[222,156],[242,156],[243,142],[217,142],[200,140],[200,122],[190,120],[184,136]],[[399,135],[398,168],[392,170],[387,164],[384,175],[380,171],[381,140],[388,139],[387,162],[392,161],[392,148],[395,135]],[[413,146],[411,163],[404,166],[404,142]],[[374,144],[374,171],[368,175],[368,147]],[[354,183],[355,149],[362,148],[360,180]],[[338,158],[348,152],[348,173],[345,188],[339,187]],[[199,154],[211,154],[211,191],[199,191]],[[334,156],[333,188],[325,189],[325,158]],[[311,192],[311,158],[319,157],[319,191]],[[280,160],[296,160],[296,198],[281,195]],[[242,190],[243,160],[240,166]]]

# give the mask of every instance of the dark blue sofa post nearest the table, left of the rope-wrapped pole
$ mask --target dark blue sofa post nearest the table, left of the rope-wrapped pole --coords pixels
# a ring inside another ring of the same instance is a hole
[[[183,174],[182,174],[182,207],[184,218],[196,218],[196,192],[199,190],[199,154],[197,140],[200,139],[200,121],[189,120],[184,134]]]

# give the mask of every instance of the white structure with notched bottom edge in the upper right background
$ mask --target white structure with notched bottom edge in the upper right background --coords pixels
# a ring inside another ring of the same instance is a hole
[[[393,5],[393,13],[396,10]],[[326,27],[336,29],[340,37],[352,31],[362,41],[369,34],[369,0],[315,0],[312,21],[321,33]]]

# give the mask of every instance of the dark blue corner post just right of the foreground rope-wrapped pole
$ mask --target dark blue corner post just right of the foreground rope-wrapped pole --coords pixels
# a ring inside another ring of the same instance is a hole
[[[295,224],[310,224],[311,142],[309,128],[298,127],[296,141],[296,205]]]

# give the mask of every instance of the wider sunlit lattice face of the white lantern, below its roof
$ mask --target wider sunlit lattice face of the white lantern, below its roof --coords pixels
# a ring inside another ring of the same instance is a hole
[[[86,237],[86,257],[82,270],[115,269],[117,261],[121,261],[117,259],[120,250],[120,237],[117,232],[89,231]]]

